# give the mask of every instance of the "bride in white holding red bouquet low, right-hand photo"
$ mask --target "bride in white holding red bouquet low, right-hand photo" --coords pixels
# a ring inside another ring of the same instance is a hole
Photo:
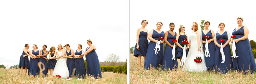
[[[193,22],[192,24],[192,32],[188,35],[189,37],[189,51],[187,55],[187,60],[183,65],[182,71],[189,71],[189,72],[206,72],[206,66],[204,61],[204,56],[202,56],[202,62],[196,63],[194,59],[200,52],[200,54],[204,55],[204,52],[201,51],[203,45],[201,43],[202,40],[202,33],[201,29],[198,30],[198,24]]]

